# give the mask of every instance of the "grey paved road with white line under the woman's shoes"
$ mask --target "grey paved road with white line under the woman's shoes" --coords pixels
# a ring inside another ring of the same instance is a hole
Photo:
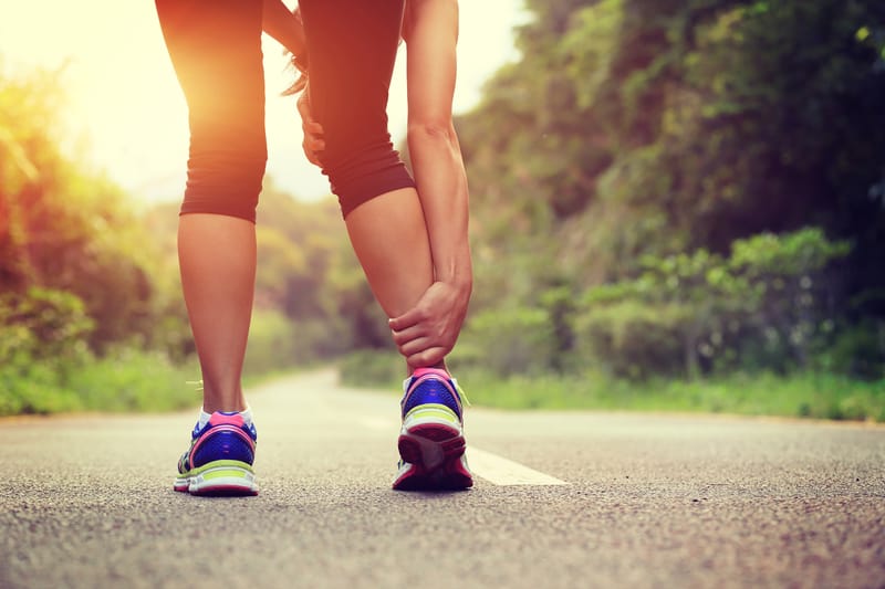
[[[394,393],[250,400],[254,498],[171,491],[192,411],[0,421],[0,587],[885,587],[885,428],[473,408],[405,494]]]

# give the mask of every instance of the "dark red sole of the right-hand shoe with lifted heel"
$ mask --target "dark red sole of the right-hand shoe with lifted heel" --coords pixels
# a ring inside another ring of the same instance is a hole
[[[399,456],[407,463],[396,491],[461,491],[473,485],[465,459],[464,434],[442,423],[416,424],[399,434]]]

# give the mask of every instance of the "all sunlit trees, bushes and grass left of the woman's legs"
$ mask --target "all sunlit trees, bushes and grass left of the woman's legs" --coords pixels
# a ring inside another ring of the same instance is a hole
[[[127,196],[63,149],[60,77],[0,70],[0,414],[181,407],[174,266]]]

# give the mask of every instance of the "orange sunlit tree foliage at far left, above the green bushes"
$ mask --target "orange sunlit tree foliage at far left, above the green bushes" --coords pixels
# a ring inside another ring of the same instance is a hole
[[[0,288],[75,296],[93,323],[81,335],[102,354],[148,340],[167,304],[152,278],[156,250],[122,191],[62,152],[62,104],[50,73],[0,73]]]

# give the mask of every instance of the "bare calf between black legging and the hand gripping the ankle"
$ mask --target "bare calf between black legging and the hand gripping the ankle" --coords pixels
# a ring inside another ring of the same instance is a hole
[[[397,317],[410,309],[434,282],[430,242],[415,189],[394,190],[364,202],[345,222],[384,312]],[[445,368],[444,362],[437,368]]]

